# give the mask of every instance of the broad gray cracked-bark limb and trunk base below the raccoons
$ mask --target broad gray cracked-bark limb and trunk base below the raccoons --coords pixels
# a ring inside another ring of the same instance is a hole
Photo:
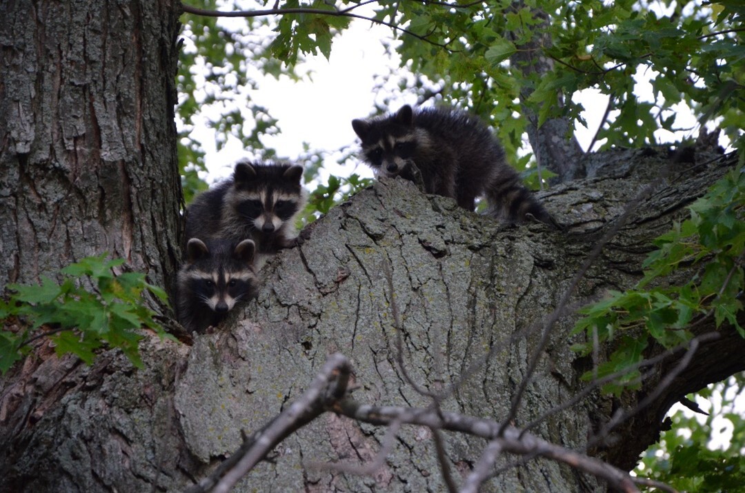
[[[0,490],[182,491],[241,445],[241,430],[258,430],[301,395],[333,352],[352,360],[352,396],[361,403],[428,406],[430,399],[404,378],[402,362],[425,389],[454,385],[443,410],[504,420],[539,347],[542,320],[598,238],[667,168],[666,159],[652,154],[597,156],[609,163],[603,176],[544,194],[546,208],[566,232],[537,223],[500,226],[452,200],[420,194],[410,182],[377,182],[311,225],[305,244],[271,261],[262,271],[258,299],[223,326],[195,335],[191,345],[146,340],[144,370],[116,352],[102,354],[92,366],[59,360],[42,344],[1,380]],[[650,240],[731,165],[720,159],[695,171],[673,170],[589,268],[570,303],[630,287]],[[512,424],[521,427],[586,387],[579,376],[591,362],[569,350],[574,319],[559,319],[551,329]],[[400,358],[397,331],[403,337]],[[733,333],[726,328],[721,340],[703,345],[653,405],[615,430],[612,446],[595,446],[592,453],[632,467],[656,439],[670,404],[743,369],[745,344]],[[652,348],[649,355],[660,351]],[[632,410],[679,356],[655,366],[639,392],[618,400],[591,392],[549,413],[531,431],[583,450],[615,410]],[[425,427],[402,427],[374,474],[323,467],[372,462],[386,433],[325,413],[285,439],[235,491],[446,491]],[[444,437],[446,460],[459,481],[486,444],[460,433]],[[498,466],[504,471],[483,491],[605,488],[546,459],[502,457]]]

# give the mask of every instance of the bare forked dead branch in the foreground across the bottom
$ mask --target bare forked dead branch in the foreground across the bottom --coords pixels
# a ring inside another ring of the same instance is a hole
[[[434,432],[455,431],[488,440],[489,443],[478,462],[479,470],[473,471],[467,478],[471,491],[478,491],[481,483],[489,477],[484,471],[491,471],[495,459],[502,452],[529,458],[539,456],[562,462],[579,471],[602,478],[609,486],[622,492],[638,492],[636,484],[647,485],[644,483],[645,480],[638,480],[600,459],[547,442],[519,428],[504,427],[500,422],[491,419],[449,413],[437,406],[419,408],[358,403],[349,398],[349,378],[352,372],[352,364],[343,354],[330,355],[308,389],[293,404],[251,436],[244,436],[244,444],[235,454],[226,459],[213,474],[203,478],[186,492],[229,492],[232,486],[264,459],[276,445],[326,411],[357,422],[390,427],[389,432],[393,434],[402,424],[416,424],[428,427]],[[387,448],[390,448],[390,444],[383,447],[384,450]],[[381,454],[383,452],[381,451]],[[378,462],[381,463],[382,460],[375,460],[375,463]],[[331,467],[336,468],[335,466],[337,465]]]

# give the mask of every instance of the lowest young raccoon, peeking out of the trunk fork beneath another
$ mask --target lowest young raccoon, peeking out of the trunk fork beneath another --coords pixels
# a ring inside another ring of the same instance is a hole
[[[178,319],[188,332],[218,325],[238,302],[256,296],[255,252],[251,240],[188,241],[176,293]]]

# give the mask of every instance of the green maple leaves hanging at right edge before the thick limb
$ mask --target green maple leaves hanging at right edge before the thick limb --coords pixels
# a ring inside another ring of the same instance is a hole
[[[720,327],[727,323],[741,336],[737,315],[743,309],[745,287],[745,173],[730,171],[690,207],[691,217],[676,223],[654,241],[656,249],[644,261],[644,278],[630,290],[611,291],[605,299],[583,308],[574,334],[586,343],[572,349],[591,354],[598,343],[618,339],[616,349],[586,380],[622,372],[644,358],[652,343],[665,348],[691,339],[691,328],[709,317]],[[663,284],[676,270],[692,272],[685,282]],[[638,384],[638,372],[608,384],[606,392],[620,393]]]

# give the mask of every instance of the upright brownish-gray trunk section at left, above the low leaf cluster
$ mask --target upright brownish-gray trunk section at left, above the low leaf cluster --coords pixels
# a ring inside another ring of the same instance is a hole
[[[1,8],[0,284],[109,252],[170,285],[182,203],[176,4]]]

